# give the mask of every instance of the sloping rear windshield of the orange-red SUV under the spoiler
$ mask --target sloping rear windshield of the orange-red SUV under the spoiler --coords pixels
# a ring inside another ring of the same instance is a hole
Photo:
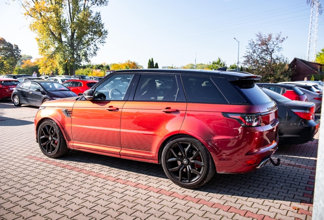
[[[238,80],[232,81],[232,83],[255,105],[272,101],[253,80]]]

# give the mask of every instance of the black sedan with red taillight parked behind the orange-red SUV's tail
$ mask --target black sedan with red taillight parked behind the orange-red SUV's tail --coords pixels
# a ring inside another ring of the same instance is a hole
[[[262,90],[278,105],[279,144],[294,145],[312,141],[319,127],[315,104],[293,101],[274,91]]]

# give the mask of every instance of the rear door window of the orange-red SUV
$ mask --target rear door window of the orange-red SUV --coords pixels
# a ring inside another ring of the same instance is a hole
[[[134,100],[140,101],[180,101],[175,75],[142,74]]]

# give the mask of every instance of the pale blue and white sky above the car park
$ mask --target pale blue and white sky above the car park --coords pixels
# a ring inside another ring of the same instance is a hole
[[[324,8],[324,0],[320,3]],[[110,0],[95,10],[109,34],[92,64],[130,60],[147,68],[153,58],[161,68],[221,58],[229,66],[244,60],[258,32],[288,37],[281,53],[289,62],[307,56],[307,0]],[[36,34],[22,13],[19,0],[0,0],[0,37],[38,58]],[[322,48],[324,13],[318,17],[317,52]]]

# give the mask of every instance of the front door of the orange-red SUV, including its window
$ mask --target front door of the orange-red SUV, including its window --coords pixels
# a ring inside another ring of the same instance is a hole
[[[74,149],[119,156],[120,118],[133,76],[112,75],[94,89],[93,100],[75,102],[72,110]],[[120,90],[119,82],[123,84],[123,90]]]

